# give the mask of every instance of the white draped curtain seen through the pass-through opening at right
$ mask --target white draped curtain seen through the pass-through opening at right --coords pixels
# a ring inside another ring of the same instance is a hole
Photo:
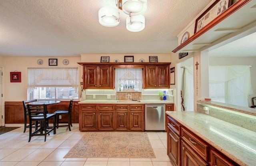
[[[209,66],[209,97],[213,101],[248,107],[253,94],[251,66]]]

